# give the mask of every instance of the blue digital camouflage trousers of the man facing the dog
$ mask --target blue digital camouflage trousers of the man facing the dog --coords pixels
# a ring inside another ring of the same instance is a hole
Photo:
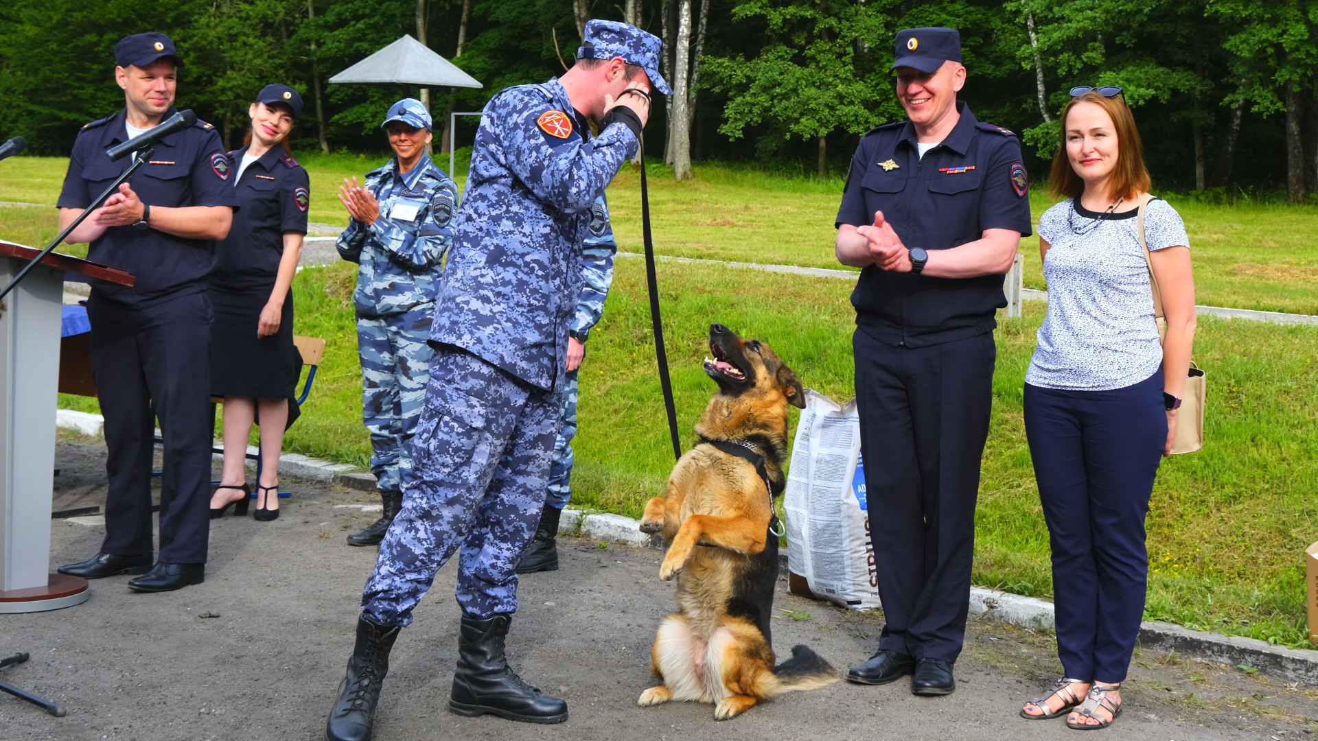
[[[361,595],[368,616],[411,624],[413,608],[459,546],[463,612],[486,618],[517,610],[517,564],[540,522],[560,410],[560,393],[460,348],[435,351],[415,475]]]

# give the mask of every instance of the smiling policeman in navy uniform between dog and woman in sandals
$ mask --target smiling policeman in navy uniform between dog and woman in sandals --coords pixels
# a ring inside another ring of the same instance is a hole
[[[956,690],[970,599],[979,459],[988,436],[1003,274],[1031,233],[1020,142],[957,91],[961,34],[903,30],[898,98],[909,120],[861,140],[837,214],[851,294],[855,393],[879,597],[879,650],[847,679],[915,674]]]

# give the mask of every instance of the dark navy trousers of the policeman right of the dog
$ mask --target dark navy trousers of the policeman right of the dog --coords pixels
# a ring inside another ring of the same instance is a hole
[[[970,609],[979,459],[998,353],[992,334],[911,348],[858,328],[851,344],[887,621],[879,647],[954,662]]]

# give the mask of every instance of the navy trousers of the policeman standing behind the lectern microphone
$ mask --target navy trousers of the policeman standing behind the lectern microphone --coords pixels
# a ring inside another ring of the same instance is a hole
[[[163,563],[206,563],[211,534],[211,299],[206,291],[132,309],[92,290],[91,373],[105,415],[105,542],[101,552],[152,552],[156,421]]]

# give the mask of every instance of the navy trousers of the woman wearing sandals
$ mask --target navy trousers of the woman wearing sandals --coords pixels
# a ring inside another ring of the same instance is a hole
[[[1110,392],[1025,384],[1025,435],[1053,550],[1058,658],[1072,679],[1122,682],[1144,617],[1162,370]]]

